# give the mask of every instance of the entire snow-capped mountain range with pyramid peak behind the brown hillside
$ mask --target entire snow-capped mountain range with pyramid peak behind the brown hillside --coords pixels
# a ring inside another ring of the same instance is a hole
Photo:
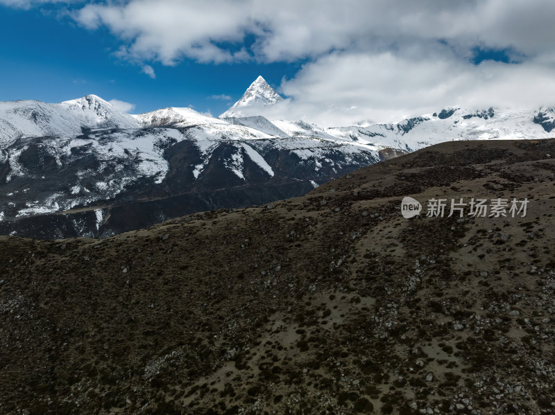
[[[551,108],[448,107],[347,127],[241,116],[280,100],[259,77],[219,118],[175,107],[125,114],[94,95],[0,103],[0,234],[111,236],[299,196],[443,141],[540,139],[555,128]]]

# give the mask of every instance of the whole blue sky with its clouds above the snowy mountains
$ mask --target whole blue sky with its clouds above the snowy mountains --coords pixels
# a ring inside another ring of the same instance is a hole
[[[553,15],[551,0],[0,0],[0,100],[217,116],[262,75],[287,98],[264,115],[327,125],[555,105]]]

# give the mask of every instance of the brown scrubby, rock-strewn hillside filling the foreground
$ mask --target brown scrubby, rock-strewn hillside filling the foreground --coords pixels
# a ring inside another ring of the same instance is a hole
[[[444,143],[270,205],[1,237],[0,413],[548,413],[553,154]],[[404,219],[404,196],[529,204]]]

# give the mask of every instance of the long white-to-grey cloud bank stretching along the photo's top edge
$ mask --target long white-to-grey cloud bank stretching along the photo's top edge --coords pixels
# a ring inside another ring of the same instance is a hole
[[[128,57],[164,64],[297,60],[440,39],[460,53],[486,46],[538,55],[555,50],[553,15],[551,0],[130,0],[74,13],[87,28],[109,28]],[[237,48],[248,34],[250,50]]]

